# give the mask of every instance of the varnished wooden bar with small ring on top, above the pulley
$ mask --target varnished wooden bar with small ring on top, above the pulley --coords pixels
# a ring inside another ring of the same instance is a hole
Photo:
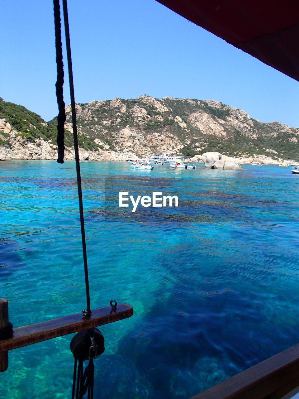
[[[12,338],[0,340],[0,356],[3,356],[8,350],[123,320],[131,317],[132,314],[133,308],[131,305],[120,303],[117,304],[115,309],[111,306],[94,309],[90,317],[84,317],[82,313],[77,313],[71,316],[31,324],[30,326],[18,327],[14,329]]]

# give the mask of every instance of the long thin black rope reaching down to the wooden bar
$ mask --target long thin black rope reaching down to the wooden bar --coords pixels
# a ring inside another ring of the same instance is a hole
[[[69,67],[69,87],[70,87],[70,94],[71,94],[74,148],[75,148],[77,185],[78,185],[78,196],[79,196],[82,249],[83,249],[83,261],[84,261],[84,272],[85,272],[85,287],[86,287],[86,297],[87,297],[87,308],[86,308],[86,310],[83,311],[83,313],[85,316],[90,316],[91,310],[90,310],[90,298],[89,298],[89,281],[88,281],[88,268],[87,268],[87,255],[86,255],[86,242],[85,242],[85,229],[84,229],[83,199],[82,199],[82,188],[81,188],[81,173],[80,173],[80,162],[79,162],[79,148],[78,148],[75,94],[74,94],[73,69],[72,69],[72,57],[71,57],[71,43],[70,43],[70,38],[69,38],[69,18],[67,15],[67,0],[62,0],[62,3],[63,3],[63,16],[64,16],[64,25],[65,25],[65,41],[66,41],[66,45],[67,45],[67,65]]]

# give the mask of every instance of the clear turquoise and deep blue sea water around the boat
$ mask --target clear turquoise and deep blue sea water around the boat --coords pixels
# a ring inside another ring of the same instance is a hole
[[[91,307],[133,306],[100,328],[96,398],[189,398],[299,342],[299,176],[291,168],[132,171],[82,162]],[[177,195],[119,208],[119,191]],[[14,327],[86,307],[75,162],[0,163],[0,297]],[[71,398],[63,336],[9,352],[0,398]]]

